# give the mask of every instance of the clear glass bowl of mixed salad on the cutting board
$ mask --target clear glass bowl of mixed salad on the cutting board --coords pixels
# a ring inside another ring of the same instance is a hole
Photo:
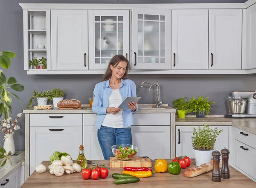
[[[138,153],[138,146],[124,144],[124,145],[113,145],[112,152],[117,159],[127,161],[133,159]]]

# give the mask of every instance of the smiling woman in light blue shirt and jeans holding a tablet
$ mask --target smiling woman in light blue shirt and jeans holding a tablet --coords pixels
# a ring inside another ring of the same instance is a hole
[[[98,140],[104,159],[114,156],[108,145],[131,144],[132,113],[138,105],[128,104],[130,110],[118,108],[126,97],[136,97],[134,81],[127,79],[129,61],[123,55],[115,55],[109,62],[102,82],[96,84],[92,110],[97,114]]]

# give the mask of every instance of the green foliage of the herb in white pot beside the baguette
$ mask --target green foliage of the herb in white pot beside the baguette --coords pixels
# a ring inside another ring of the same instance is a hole
[[[193,127],[192,146],[195,150],[213,150],[216,138],[223,130],[218,130],[218,127],[211,129],[206,122],[203,125],[203,128],[198,126],[197,130]]]

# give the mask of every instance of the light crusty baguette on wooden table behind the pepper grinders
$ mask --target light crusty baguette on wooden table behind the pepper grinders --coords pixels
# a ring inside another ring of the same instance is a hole
[[[222,166],[222,160],[220,160],[220,168]],[[206,172],[209,172],[213,169],[213,161],[211,160],[210,162],[204,163],[198,167],[194,168],[189,168],[184,172],[184,175],[186,177],[195,177],[200,174],[204,174]]]

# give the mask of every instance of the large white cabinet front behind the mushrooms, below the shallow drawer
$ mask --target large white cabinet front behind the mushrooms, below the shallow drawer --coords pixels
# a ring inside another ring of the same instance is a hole
[[[82,126],[30,127],[30,174],[42,161],[49,161],[55,152],[66,152],[73,160],[83,144]]]

